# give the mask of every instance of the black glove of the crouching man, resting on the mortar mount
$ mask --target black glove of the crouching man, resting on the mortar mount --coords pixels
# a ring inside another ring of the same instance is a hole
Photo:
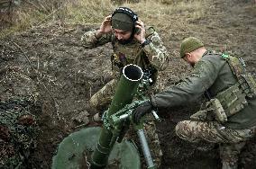
[[[150,113],[153,109],[153,105],[150,101],[143,102],[133,111],[133,121],[138,124],[146,113]]]

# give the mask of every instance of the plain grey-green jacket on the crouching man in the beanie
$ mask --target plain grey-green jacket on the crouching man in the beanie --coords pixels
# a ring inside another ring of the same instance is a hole
[[[228,63],[217,54],[206,54],[201,58],[186,79],[171,86],[167,91],[151,97],[155,107],[174,107],[196,101],[206,90],[211,97],[237,83]],[[256,126],[256,99],[248,99],[248,106],[228,118],[225,126],[246,129]],[[254,111],[253,111],[254,110]]]

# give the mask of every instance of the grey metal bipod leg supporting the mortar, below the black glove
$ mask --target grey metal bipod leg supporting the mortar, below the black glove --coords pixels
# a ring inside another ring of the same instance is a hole
[[[143,155],[145,157],[148,168],[149,169],[155,169],[156,166],[153,163],[150,147],[148,145],[148,142],[147,142],[147,139],[145,137],[143,129],[138,129],[137,134],[138,134],[138,137],[139,137],[141,145],[142,145]]]

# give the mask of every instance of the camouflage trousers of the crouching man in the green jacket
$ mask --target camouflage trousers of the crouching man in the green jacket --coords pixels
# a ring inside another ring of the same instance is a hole
[[[184,120],[178,122],[176,133],[179,138],[190,142],[206,140],[219,143],[223,168],[237,168],[238,156],[245,141],[252,138],[255,128],[228,129],[217,121]]]

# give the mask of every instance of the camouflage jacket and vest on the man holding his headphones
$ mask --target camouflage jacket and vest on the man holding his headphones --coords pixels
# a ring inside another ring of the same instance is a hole
[[[146,28],[146,40],[151,43],[142,48],[137,40],[132,40],[125,45],[115,39],[114,33],[107,33],[96,39],[96,31],[87,31],[81,38],[84,45],[89,48],[96,48],[107,42],[112,42],[114,50],[114,62],[122,66],[135,64],[143,70],[154,67],[156,70],[164,70],[168,66],[168,52],[160,40],[159,34],[152,28]]]

